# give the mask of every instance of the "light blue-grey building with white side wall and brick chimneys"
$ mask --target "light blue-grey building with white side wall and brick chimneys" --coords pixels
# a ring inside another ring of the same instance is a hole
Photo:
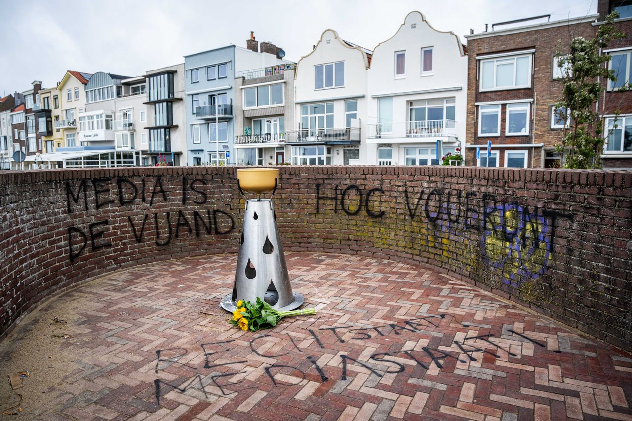
[[[283,50],[258,42],[251,33],[248,48],[227,45],[185,56],[187,164],[229,165],[235,160],[235,74],[281,64]],[[240,110],[241,112],[241,110]],[[241,133],[238,133],[241,134]],[[219,147],[219,157],[217,154]]]

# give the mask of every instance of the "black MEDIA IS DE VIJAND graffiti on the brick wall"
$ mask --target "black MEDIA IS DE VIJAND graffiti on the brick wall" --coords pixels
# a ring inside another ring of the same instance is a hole
[[[116,206],[118,211],[129,211],[130,206],[167,204],[169,206],[206,205],[209,195],[202,188],[204,180],[182,177],[179,191],[167,191],[160,176],[152,182],[144,178],[133,181],[125,177],[99,178],[71,183],[66,181],[66,211],[68,215],[79,211],[99,210]],[[148,192],[150,192],[148,194]],[[229,234],[235,227],[233,216],[226,210],[204,208],[152,212],[127,216],[125,227],[110,224],[107,219],[68,227],[68,258],[71,262],[89,249],[92,252],[112,247],[116,232],[130,230],[136,242],[153,240],[156,246],[167,246],[183,235]]]

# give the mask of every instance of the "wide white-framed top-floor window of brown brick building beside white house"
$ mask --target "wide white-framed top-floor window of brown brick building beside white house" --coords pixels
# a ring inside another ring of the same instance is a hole
[[[480,69],[482,91],[528,88],[531,85],[531,55],[482,60]]]

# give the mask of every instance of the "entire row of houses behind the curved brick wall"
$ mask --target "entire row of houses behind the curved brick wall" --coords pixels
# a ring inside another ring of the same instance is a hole
[[[556,53],[618,11],[626,39],[603,51],[617,81],[603,81],[595,107],[607,133],[604,167],[632,167],[632,91],[617,92],[632,81],[628,3],[494,24],[471,31],[467,45],[412,12],[372,50],[327,29],[290,62],[251,32],[245,48],[191,54],[141,76],[68,71],[55,88],[33,81],[0,99],[0,159],[4,168],[433,165],[460,152],[466,165],[554,167],[568,124],[555,107]]]

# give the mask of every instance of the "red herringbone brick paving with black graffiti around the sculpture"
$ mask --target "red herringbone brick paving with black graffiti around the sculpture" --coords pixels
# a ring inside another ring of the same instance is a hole
[[[611,345],[431,270],[287,262],[318,313],[257,333],[218,307],[235,255],[112,273],[52,300],[42,314],[72,304],[75,333],[56,343],[74,368],[47,389],[52,405],[23,417],[632,420],[632,356]]]

